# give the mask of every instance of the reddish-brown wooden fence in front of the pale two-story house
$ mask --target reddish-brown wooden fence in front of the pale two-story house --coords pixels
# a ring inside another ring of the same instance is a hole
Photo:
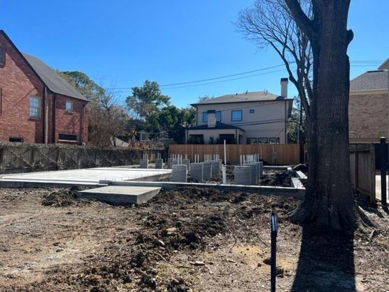
[[[260,159],[271,164],[273,162],[273,153],[277,152],[277,164],[299,164],[300,145],[299,144],[250,144],[250,145],[226,145],[227,164],[239,164],[240,155],[258,153]],[[205,154],[219,154],[224,162],[223,144],[186,144],[169,145],[170,154],[185,154],[193,162],[195,154],[199,154],[200,161],[204,159]]]

